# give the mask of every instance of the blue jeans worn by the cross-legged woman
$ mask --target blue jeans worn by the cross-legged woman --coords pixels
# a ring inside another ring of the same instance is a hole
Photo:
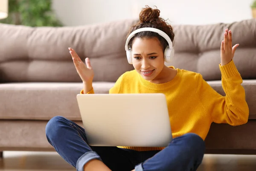
[[[87,144],[84,129],[64,117],[53,117],[46,125],[46,136],[58,154],[77,171],[93,159],[101,160],[112,171],[196,171],[204,157],[204,141],[196,134],[177,137],[161,151],[134,151]]]

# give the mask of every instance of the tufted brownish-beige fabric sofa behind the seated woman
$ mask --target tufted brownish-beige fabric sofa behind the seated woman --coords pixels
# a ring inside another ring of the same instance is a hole
[[[56,115],[81,125],[76,102],[82,84],[68,47],[90,57],[96,93],[108,93],[117,78],[133,69],[125,36],[136,20],[91,26],[31,28],[0,24],[0,151],[52,151],[45,126]],[[176,68],[199,72],[220,94],[220,45],[224,29],[239,43],[234,62],[244,79],[250,108],[245,125],[212,124],[207,153],[256,154],[256,20],[207,26],[174,26]],[[189,94],[188,94],[189,95]]]

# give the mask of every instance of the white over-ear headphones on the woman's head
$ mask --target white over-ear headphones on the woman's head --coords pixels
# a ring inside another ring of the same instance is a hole
[[[163,31],[157,29],[157,28],[151,28],[151,27],[145,27],[145,28],[139,28],[135,31],[133,31],[127,38],[126,43],[125,43],[125,51],[126,51],[126,56],[129,64],[132,64],[132,54],[131,54],[131,48],[128,48],[128,43],[131,40],[132,37],[136,33],[142,32],[142,31],[152,31],[158,33],[160,36],[165,38],[165,40],[168,42],[169,46],[166,47],[164,50],[164,61],[169,63],[171,62],[172,58],[174,57],[174,48],[172,46],[172,40],[170,37]]]

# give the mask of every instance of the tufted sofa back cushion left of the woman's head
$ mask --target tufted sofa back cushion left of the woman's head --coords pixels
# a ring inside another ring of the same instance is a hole
[[[81,82],[68,47],[90,58],[94,81],[116,81],[133,69],[125,52],[126,34],[135,20],[76,27],[0,24],[1,82]]]

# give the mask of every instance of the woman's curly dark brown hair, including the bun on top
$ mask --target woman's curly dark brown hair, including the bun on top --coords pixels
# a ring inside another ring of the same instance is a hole
[[[139,28],[151,27],[151,28],[157,28],[165,32],[173,42],[174,32],[173,32],[172,26],[166,23],[166,21],[159,16],[160,16],[159,9],[152,9],[149,6],[146,6],[140,11],[140,15],[139,15],[140,21],[130,28],[130,30],[128,31],[127,37],[129,36],[129,34],[131,34],[131,32]],[[152,31],[143,31],[135,34],[134,37],[132,37],[131,40],[129,41],[128,48],[131,48],[135,38],[153,38],[153,37],[158,38],[164,51],[166,46],[168,46],[168,42],[162,36]]]

